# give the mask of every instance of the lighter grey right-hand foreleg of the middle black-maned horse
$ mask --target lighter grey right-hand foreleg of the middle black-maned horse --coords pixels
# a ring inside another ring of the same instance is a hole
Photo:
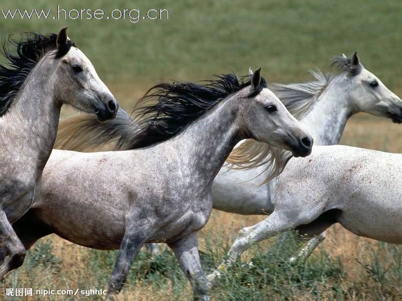
[[[168,244],[168,246],[175,253],[180,267],[191,283],[194,299],[210,300],[207,280],[201,269],[196,233],[191,233],[172,244]]]

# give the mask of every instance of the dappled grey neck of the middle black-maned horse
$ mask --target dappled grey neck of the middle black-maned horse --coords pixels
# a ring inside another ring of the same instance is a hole
[[[188,166],[188,172],[198,176],[198,183],[212,184],[235,145],[245,138],[237,122],[238,110],[236,99],[222,100],[172,139],[182,166]]]

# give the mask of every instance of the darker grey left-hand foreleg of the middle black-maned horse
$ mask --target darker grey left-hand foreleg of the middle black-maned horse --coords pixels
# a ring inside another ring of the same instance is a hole
[[[126,227],[112,275],[107,283],[108,294],[118,294],[121,291],[133,260],[146,242],[148,235],[148,226],[138,226],[133,223]]]

